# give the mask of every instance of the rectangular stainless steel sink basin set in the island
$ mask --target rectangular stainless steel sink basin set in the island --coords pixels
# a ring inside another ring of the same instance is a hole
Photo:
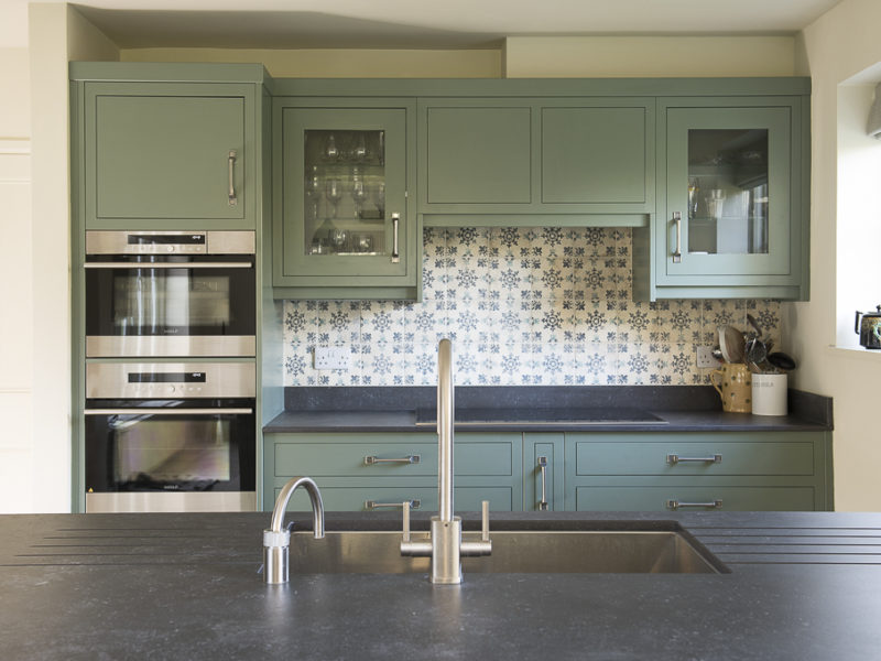
[[[470,539],[476,533],[464,533]],[[413,533],[426,540],[427,533]],[[463,557],[468,573],[673,573],[718,574],[729,570],[684,531],[676,530],[498,530],[492,554]],[[427,573],[428,557],[402,557],[401,533],[328,531],[291,537],[291,574]]]

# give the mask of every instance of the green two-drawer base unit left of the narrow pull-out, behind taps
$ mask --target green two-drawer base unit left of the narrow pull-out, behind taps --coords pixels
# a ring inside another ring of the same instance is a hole
[[[523,501],[521,434],[456,434],[457,511],[519,511]],[[263,436],[262,507],[271,510],[293,476],[308,475],[329,511],[436,511],[437,435],[432,433],[268,433]],[[309,509],[295,494],[289,509]]]

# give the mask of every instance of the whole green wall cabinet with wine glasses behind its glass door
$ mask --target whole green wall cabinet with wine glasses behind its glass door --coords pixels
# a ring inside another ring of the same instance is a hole
[[[278,97],[272,283],[284,299],[416,299],[411,99]]]

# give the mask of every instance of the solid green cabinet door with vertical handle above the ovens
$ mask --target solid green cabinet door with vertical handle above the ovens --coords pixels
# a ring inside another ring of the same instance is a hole
[[[87,229],[254,228],[254,85],[86,83]]]

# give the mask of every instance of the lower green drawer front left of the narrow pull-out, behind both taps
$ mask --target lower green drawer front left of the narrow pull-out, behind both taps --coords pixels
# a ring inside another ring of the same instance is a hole
[[[437,511],[437,486],[422,487],[320,487],[326,511],[400,511],[404,500],[418,500],[415,511]],[[275,498],[281,487],[275,488]],[[456,487],[454,502],[457,512],[480,511],[480,503],[489,500],[490,510],[510,512],[514,509],[514,490],[511,487]],[[373,506],[368,507],[372,502]],[[383,507],[392,506],[392,507]],[[267,505],[271,509],[271,505]],[[297,489],[291,497],[289,511],[311,511],[308,494]]]

